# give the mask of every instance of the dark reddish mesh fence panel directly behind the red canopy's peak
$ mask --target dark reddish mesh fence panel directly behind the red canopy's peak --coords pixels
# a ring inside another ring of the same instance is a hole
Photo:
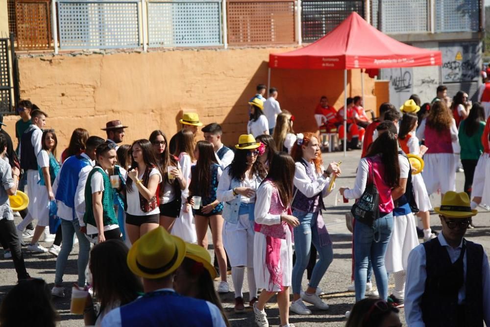
[[[343,22],[353,11],[364,17],[364,1],[301,1],[301,36],[313,42]]]

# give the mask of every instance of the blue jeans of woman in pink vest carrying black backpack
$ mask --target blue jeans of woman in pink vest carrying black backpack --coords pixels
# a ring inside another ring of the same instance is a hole
[[[354,226],[354,279],[356,302],[364,299],[368,277],[368,260],[371,260],[379,297],[388,298],[388,275],[385,254],[393,231],[393,214],[374,221],[373,226],[356,221]]]

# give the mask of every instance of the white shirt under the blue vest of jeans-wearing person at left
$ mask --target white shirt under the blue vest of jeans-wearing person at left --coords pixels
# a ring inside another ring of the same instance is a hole
[[[83,222],[83,215],[85,214],[85,184],[87,183],[87,177],[89,176],[89,173],[95,166],[95,161],[90,159],[90,157],[85,153],[81,153],[80,155],[88,159],[90,162],[89,165],[83,167],[78,173],[78,184],[76,186],[75,194],[73,194],[75,204],[75,216],[76,218],[78,218],[78,223],[81,227],[85,226],[85,223]],[[61,166],[61,169],[63,169],[63,165]],[[58,189],[60,176],[61,174],[58,174],[58,176],[56,176],[56,179],[54,180],[54,194],[56,194],[56,190]],[[65,205],[65,203],[63,203],[62,201],[56,201],[56,203],[58,204],[58,217],[64,220],[73,220],[73,209]]]

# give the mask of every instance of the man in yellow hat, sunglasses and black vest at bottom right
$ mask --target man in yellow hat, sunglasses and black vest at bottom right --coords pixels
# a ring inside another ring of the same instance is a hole
[[[446,192],[437,238],[418,245],[408,258],[405,318],[409,327],[490,326],[490,270],[480,244],[464,238],[472,210],[464,192]]]

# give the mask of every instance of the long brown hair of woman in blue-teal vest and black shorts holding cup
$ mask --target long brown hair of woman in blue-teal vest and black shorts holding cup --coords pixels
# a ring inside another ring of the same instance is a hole
[[[196,150],[199,153],[199,159],[196,162],[196,168],[194,172],[197,176],[191,176],[191,184],[189,190],[191,196],[196,194],[197,190],[200,190],[202,197],[209,196],[209,185],[211,185],[211,165],[217,164],[216,154],[214,152],[213,144],[208,141],[198,141],[196,144]]]

